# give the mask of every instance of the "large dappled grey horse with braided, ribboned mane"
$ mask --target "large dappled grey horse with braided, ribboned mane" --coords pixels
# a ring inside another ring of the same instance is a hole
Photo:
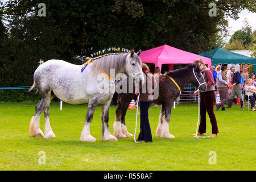
[[[117,138],[110,134],[108,125],[109,105],[114,94],[109,92],[109,85],[123,73],[133,75],[137,83],[144,82],[140,53],[141,51],[135,53],[132,50],[126,54],[101,57],[88,64],[84,72],[81,72],[84,65],[75,65],[63,60],[48,60],[40,65],[34,73],[34,84],[31,89],[36,85],[42,100],[36,105],[35,114],[31,118],[30,134],[34,137],[55,138],[49,123],[49,104],[56,96],[72,105],[88,103],[85,125],[80,137],[82,142],[96,141],[90,135],[90,123],[98,104],[102,105],[101,139],[117,141]],[[113,80],[110,79],[110,69],[112,72],[114,69]],[[39,128],[40,114],[43,110],[46,119],[44,134]]]

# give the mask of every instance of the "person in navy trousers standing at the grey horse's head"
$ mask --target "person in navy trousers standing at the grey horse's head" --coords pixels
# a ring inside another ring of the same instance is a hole
[[[148,109],[153,101],[152,90],[156,88],[156,80],[154,75],[149,73],[147,64],[142,63],[142,71],[145,73],[145,83],[142,86],[137,86],[136,94],[141,93],[139,96],[139,108],[141,109],[141,131],[137,141],[152,142],[152,134],[150,123],[148,120]],[[148,90],[148,84],[152,85],[152,90]],[[146,91],[146,92],[145,92]]]

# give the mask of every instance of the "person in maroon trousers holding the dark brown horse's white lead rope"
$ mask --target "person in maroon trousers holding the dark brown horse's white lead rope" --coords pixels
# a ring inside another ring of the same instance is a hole
[[[207,82],[207,88],[204,91],[200,91],[200,125],[197,135],[204,135],[206,132],[206,113],[208,113],[210,118],[210,123],[212,124],[212,137],[216,137],[218,133],[217,120],[214,114],[214,79],[212,71],[205,66],[205,63],[201,59],[195,60],[194,64],[199,64],[201,72],[203,73],[204,80]],[[198,94],[198,90],[194,93]],[[194,134],[196,135],[196,134]]]

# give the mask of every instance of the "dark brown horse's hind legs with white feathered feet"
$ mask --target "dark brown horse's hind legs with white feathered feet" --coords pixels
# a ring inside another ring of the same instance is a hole
[[[127,110],[130,102],[131,102],[131,100],[129,100],[129,98],[122,99],[121,103],[117,107],[117,110],[115,110],[115,122],[113,124],[113,127],[114,127],[113,135],[117,138],[126,138],[126,137],[128,137],[128,136],[126,136],[125,133],[122,132],[121,121],[122,121],[123,112],[125,110]]]

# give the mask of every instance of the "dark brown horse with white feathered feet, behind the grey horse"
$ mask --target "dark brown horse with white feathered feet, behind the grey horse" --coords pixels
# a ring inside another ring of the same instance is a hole
[[[169,71],[165,75],[156,76],[158,81],[159,90],[158,98],[153,100],[154,104],[162,105],[162,110],[159,115],[159,123],[156,129],[156,136],[162,138],[175,138],[174,135],[169,133],[169,121],[171,118],[171,108],[174,101],[179,97],[180,90],[182,90],[189,82],[195,85],[200,90],[205,90],[205,80],[199,68],[199,65],[191,64],[188,67]],[[175,81],[172,81],[171,78]],[[124,81],[124,80],[122,80]],[[122,82],[121,81],[121,82]],[[177,85],[175,84],[177,83]],[[129,88],[128,78],[126,80],[127,88]],[[119,83],[118,83],[119,84]],[[122,83],[123,84],[123,83]],[[133,91],[135,88],[133,89]],[[137,100],[135,92],[133,93],[120,93],[119,106],[115,110],[116,118],[114,122],[114,136],[117,138],[126,138],[133,136],[127,131],[125,125],[125,115],[131,100]]]

